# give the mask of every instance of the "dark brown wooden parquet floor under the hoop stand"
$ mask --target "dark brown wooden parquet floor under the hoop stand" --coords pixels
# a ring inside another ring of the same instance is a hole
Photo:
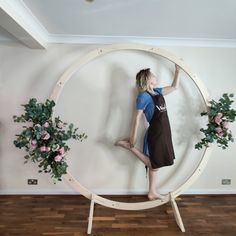
[[[123,202],[144,196],[108,197]],[[236,236],[236,195],[177,198],[185,233],[176,225],[170,203],[144,211],[120,211],[96,205],[96,236]],[[0,235],[87,235],[90,202],[83,196],[0,196]]]

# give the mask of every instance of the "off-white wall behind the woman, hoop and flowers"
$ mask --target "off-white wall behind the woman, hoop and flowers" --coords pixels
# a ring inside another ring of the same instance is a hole
[[[47,51],[18,44],[0,46],[0,193],[75,193],[66,183],[53,184],[38,174],[37,165],[23,164],[24,152],[13,146],[21,127],[12,120],[23,112],[20,104],[36,97],[44,101],[61,74],[96,45],[52,45]],[[212,98],[224,92],[236,95],[236,49],[166,47],[192,68],[205,83]],[[158,56],[137,51],[113,52],[90,62],[72,76],[58,101],[56,113],[73,122],[89,138],[70,142],[69,171],[96,193],[145,193],[145,168],[132,154],[113,143],[129,134],[135,103],[135,74],[150,67],[160,86],[171,83],[174,65]],[[166,97],[176,153],[175,165],[158,172],[158,189],[175,189],[194,170],[202,151],[194,149],[199,129],[206,121],[199,114],[203,102],[193,82],[183,72],[180,87]],[[235,104],[234,104],[235,108]],[[141,147],[145,120],[139,132]],[[236,125],[231,125],[234,135]],[[215,148],[204,173],[186,193],[236,193],[235,143],[227,150]],[[37,178],[37,186],[27,185]],[[230,178],[230,186],[221,185]]]

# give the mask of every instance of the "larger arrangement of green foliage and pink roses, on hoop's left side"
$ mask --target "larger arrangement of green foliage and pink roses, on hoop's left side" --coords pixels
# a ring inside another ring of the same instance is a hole
[[[82,142],[87,135],[78,134],[78,128],[62,122],[60,117],[52,118],[54,101],[47,99],[45,103],[38,103],[32,98],[22,106],[25,113],[13,116],[13,119],[14,122],[27,123],[28,126],[23,126],[22,132],[16,135],[14,145],[27,152],[24,163],[38,163],[40,173],[49,173],[54,181],[61,181],[68,167],[66,155],[70,148],[66,141],[75,139]]]

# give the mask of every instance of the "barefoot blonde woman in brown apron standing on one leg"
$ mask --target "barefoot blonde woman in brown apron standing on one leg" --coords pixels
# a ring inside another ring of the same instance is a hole
[[[164,166],[174,163],[174,150],[171,140],[171,130],[166,110],[165,95],[177,89],[180,67],[175,65],[175,75],[170,86],[156,88],[156,76],[150,69],[143,69],[136,75],[136,86],[139,94],[136,99],[136,112],[133,117],[130,137],[117,141],[116,145],[130,150],[149,169],[148,199],[163,199],[156,192],[156,173]],[[137,131],[142,115],[145,115],[149,128],[144,137],[143,151],[135,147]]]

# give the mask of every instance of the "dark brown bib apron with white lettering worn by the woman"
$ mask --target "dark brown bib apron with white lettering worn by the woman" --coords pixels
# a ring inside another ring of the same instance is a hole
[[[149,123],[147,141],[152,168],[157,169],[173,165],[175,154],[165,99],[162,94],[149,95],[155,104],[155,111]]]

